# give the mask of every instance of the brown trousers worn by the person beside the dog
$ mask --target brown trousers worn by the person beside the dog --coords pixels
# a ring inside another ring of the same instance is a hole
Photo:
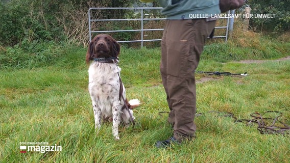
[[[195,137],[195,70],[214,25],[215,21],[206,19],[166,20],[160,72],[171,110],[168,122],[174,125],[174,137],[179,141]]]

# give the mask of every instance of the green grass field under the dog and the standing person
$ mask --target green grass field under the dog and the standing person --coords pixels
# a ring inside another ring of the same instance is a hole
[[[290,56],[289,42],[238,41],[208,44],[198,71],[249,76],[210,76],[212,80],[198,83],[197,112],[202,116],[195,119],[197,138],[167,149],[154,147],[172,135],[167,115],[158,114],[168,111],[159,48],[122,49],[119,66],[127,97],[138,98],[141,105],[134,111],[136,126],[120,127],[117,142],[110,123],[98,135],[94,131],[86,49],[54,48],[41,58],[23,52],[13,60],[2,56],[9,64],[2,62],[0,69],[0,162],[288,162],[289,134],[260,134],[255,125],[209,113],[250,119],[251,113],[279,111],[280,120],[290,125],[290,61],[274,61]],[[236,62],[249,59],[265,62]],[[196,74],[197,80],[203,77]],[[21,142],[47,142],[62,150],[20,153]]]

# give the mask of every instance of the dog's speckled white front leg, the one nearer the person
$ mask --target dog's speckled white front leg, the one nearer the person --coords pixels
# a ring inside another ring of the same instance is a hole
[[[121,105],[118,100],[115,100],[116,102],[113,103],[112,107],[112,113],[113,113],[113,135],[115,137],[115,140],[119,140],[119,134],[118,134],[118,126],[120,124],[120,111],[121,111]]]

